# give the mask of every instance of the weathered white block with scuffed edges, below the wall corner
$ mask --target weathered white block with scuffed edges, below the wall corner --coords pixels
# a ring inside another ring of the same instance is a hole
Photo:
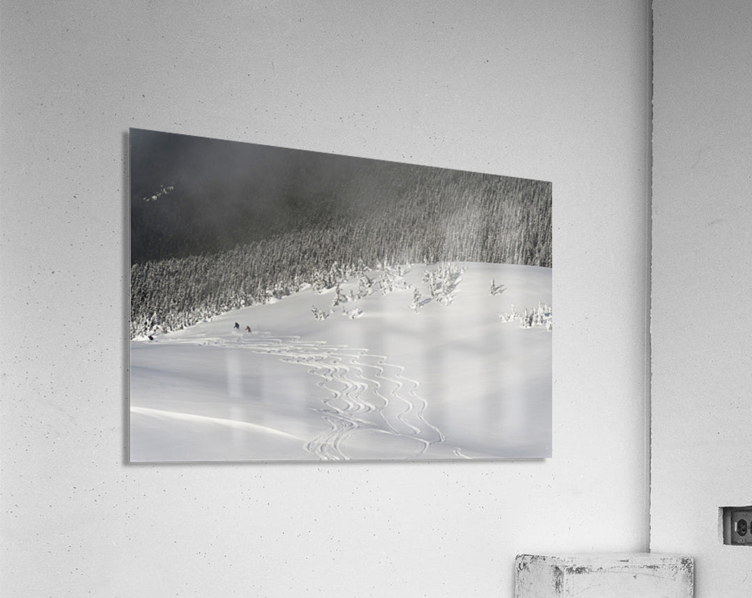
[[[520,554],[515,598],[692,598],[694,561],[675,554]]]

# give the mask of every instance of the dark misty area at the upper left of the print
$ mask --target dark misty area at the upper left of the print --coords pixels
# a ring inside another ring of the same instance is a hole
[[[406,167],[139,129],[130,160],[132,261],[228,249],[341,217],[345,202],[352,215],[368,209],[347,193],[355,178]]]

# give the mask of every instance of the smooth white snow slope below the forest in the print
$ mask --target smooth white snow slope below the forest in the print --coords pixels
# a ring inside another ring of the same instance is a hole
[[[132,461],[550,456],[551,270],[453,265],[133,340]]]

